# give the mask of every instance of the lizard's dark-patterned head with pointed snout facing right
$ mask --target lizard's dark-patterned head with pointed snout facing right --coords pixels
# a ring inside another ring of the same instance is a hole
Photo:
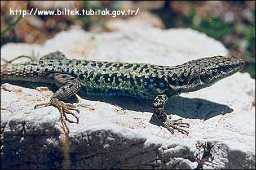
[[[241,59],[224,56],[199,59],[197,64],[200,68],[200,79],[206,86],[237,73],[245,66],[245,62]]]

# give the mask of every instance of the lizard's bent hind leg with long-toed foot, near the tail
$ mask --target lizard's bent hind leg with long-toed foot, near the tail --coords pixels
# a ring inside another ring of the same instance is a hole
[[[37,104],[35,108],[38,106],[55,106],[60,111],[60,119],[61,123],[63,124],[63,128],[65,133],[69,133],[69,129],[67,127],[67,122],[69,123],[78,123],[79,119],[76,116],[76,114],[73,113],[72,110],[77,111],[79,113],[79,110],[76,108],[76,106],[65,103],[64,100],[69,99],[69,97],[73,96],[76,92],[81,90],[81,82],[80,80],[74,78],[72,75],[69,74],[50,74],[49,78],[52,79],[52,81],[59,86],[59,90],[52,95],[50,102]],[[76,122],[73,120],[70,120],[67,117],[67,114],[72,115],[76,118]]]

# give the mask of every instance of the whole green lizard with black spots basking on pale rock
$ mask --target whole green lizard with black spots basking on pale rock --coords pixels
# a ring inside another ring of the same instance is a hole
[[[29,56],[19,56],[28,57]],[[56,51],[41,59],[1,65],[1,81],[24,80],[55,84],[59,89],[49,102],[38,106],[55,106],[67,133],[67,122],[78,123],[77,106],[65,102],[82,90],[87,95],[137,97],[153,99],[153,115],[171,133],[175,129],[188,135],[189,123],[171,119],[165,106],[168,99],[181,93],[210,87],[219,80],[242,70],[245,62],[225,56],[203,57],[176,66],[142,63],[67,59]],[[69,119],[72,115],[76,122]]]

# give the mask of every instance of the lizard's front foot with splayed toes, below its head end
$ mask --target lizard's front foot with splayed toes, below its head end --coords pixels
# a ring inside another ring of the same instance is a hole
[[[163,122],[164,127],[166,127],[171,133],[174,133],[174,130],[178,130],[179,132],[188,135],[188,131],[183,128],[188,128],[189,123],[183,123],[182,119],[171,120],[171,115],[167,117],[165,122]]]

